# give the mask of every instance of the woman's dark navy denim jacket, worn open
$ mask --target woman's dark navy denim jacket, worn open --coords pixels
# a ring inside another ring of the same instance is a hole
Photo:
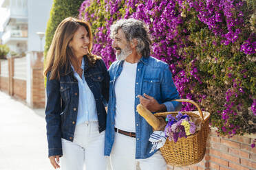
[[[98,130],[103,132],[106,124],[105,104],[109,99],[109,74],[103,60],[96,60],[94,66],[89,66],[84,56],[85,80],[94,94],[98,116]],[[79,89],[71,67],[67,73],[61,71],[60,80],[50,80],[47,73],[47,106],[45,120],[47,128],[48,156],[62,156],[61,138],[73,141],[78,111]]]

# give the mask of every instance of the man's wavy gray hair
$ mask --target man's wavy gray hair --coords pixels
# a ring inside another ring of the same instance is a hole
[[[130,42],[134,38],[138,41],[136,50],[144,57],[150,56],[150,45],[152,44],[149,29],[145,23],[136,19],[121,19],[110,27],[110,38],[114,38],[118,30],[122,29],[125,33],[127,41]]]

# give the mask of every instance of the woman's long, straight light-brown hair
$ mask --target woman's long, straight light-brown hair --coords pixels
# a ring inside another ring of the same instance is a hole
[[[83,26],[89,35],[89,45],[87,58],[89,59],[89,65],[95,64],[99,57],[91,53],[92,50],[92,29],[87,21],[81,21],[68,17],[61,21],[58,25],[54,37],[52,38],[52,44],[47,53],[46,68],[44,75],[46,76],[49,71],[50,80],[60,80],[61,73],[67,73],[70,70],[70,64],[74,66],[75,71],[78,70],[78,60],[74,56],[74,52],[68,46],[72,38],[74,37],[77,29]]]

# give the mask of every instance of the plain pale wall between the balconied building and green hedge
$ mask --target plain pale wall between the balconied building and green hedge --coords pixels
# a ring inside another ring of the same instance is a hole
[[[36,32],[45,32],[53,0],[28,0],[28,51],[40,51],[40,38]],[[45,46],[45,36],[41,49]]]

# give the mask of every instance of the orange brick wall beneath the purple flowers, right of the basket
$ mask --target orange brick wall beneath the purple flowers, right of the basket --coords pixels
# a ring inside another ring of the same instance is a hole
[[[206,155],[198,164],[188,167],[175,167],[175,170],[253,170],[256,169],[256,148],[251,148],[255,136],[217,136],[211,130],[207,143]],[[172,167],[169,167],[171,170]]]

